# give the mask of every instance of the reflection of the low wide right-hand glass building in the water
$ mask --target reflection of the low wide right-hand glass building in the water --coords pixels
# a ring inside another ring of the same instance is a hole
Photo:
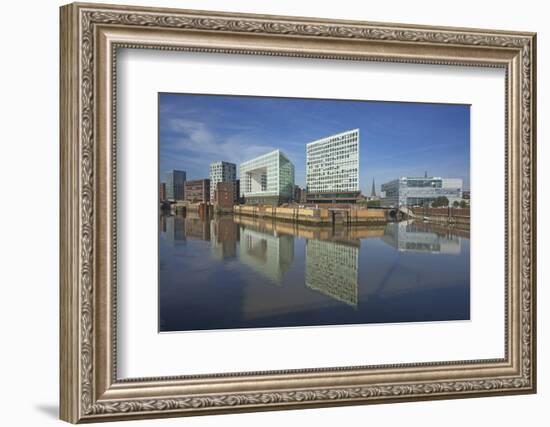
[[[382,240],[399,251],[407,252],[458,255],[462,249],[460,237],[451,233],[436,233],[414,222],[387,224]]]

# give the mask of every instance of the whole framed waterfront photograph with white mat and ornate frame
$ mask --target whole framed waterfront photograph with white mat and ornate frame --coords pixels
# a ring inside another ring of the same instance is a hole
[[[63,420],[536,391],[535,34],[60,22]]]

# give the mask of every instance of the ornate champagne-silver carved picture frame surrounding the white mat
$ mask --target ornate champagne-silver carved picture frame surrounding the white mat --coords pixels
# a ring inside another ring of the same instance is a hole
[[[77,423],[536,390],[535,34],[175,9],[61,8],[60,417]],[[505,357],[117,379],[117,48],[506,70]]]

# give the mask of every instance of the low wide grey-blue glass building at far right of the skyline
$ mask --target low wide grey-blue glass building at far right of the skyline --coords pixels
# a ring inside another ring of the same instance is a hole
[[[449,204],[462,200],[462,179],[441,177],[402,176],[382,184],[382,206],[423,206],[438,197],[446,197]]]

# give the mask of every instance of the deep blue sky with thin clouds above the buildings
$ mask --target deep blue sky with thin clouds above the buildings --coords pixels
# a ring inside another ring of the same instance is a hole
[[[470,188],[470,107],[377,101],[159,94],[160,179],[170,169],[208,178],[219,160],[239,163],[280,149],[305,186],[306,144],[360,129],[360,187],[399,176],[462,178]]]

